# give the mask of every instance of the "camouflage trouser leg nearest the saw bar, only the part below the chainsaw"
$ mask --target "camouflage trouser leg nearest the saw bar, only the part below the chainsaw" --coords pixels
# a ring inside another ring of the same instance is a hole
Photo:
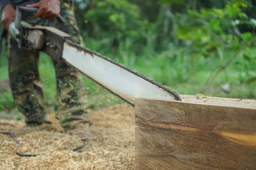
[[[61,61],[56,68],[57,97],[56,118],[61,120],[65,129],[72,129],[81,122],[92,123],[85,109],[84,85],[81,74]]]

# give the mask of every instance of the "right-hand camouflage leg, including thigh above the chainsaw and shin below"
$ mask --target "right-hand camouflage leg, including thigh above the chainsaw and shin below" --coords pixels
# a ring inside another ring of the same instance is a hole
[[[79,29],[68,3],[61,3],[61,15],[65,18],[66,23],[56,23],[56,28],[67,32],[72,36],[72,41],[81,42]],[[92,124],[92,117],[85,109],[84,83],[81,74],[69,66],[63,60],[54,62],[57,79],[57,101],[56,101],[56,118],[60,119],[61,125],[66,129],[74,129],[78,124]]]

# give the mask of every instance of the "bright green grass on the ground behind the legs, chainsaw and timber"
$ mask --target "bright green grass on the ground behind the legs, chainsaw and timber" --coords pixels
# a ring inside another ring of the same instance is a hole
[[[86,39],[85,45],[92,50],[111,57],[125,66],[131,67],[139,73],[153,78],[176,90],[179,94],[195,95],[204,87],[205,81],[212,71],[221,66],[218,57],[204,58],[200,55],[194,56],[195,73],[191,71],[190,54],[180,47],[172,47],[163,52],[155,52],[150,46],[145,46],[143,53],[135,55],[130,50],[126,50],[125,45],[121,46],[113,52],[113,50],[104,48],[103,41],[95,41],[94,39]],[[223,52],[224,60],[230,59],[235,51],[228,50]],[[250,60],[246,60],[243,54],[250,55]],[[0,78],[7,78],[7,62],[1,56]],[[255,98],[256,91],[255,81],[248,83],[249,78],[256,77],[256,48],[246,48],[230,66],[227,67],[227,76],[222,71],[209,89],[205,90],[205,94],[218,97],[233,98]],[[40,76],[44,85],[44,105],[52,109],[55,103],[56,80],[54,67],[51,59],[41,53],[40,55]],[[111,106],[113,104],[122,103],[122,101],[108,91],[102,89],[99,85],[93,83],[85,76],[83,77],[86,86],[85,92],[88,106],[95,110]],[[227,94],[221,91],[221,85],[229,83],[231,90]],[[0,94],[0,110],[12,110],[14,108],[12,94],[10,92]]]

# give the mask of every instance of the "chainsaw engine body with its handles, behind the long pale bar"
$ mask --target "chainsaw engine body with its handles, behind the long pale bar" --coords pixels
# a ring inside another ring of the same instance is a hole
[[[70,39],[71,36],[54,27],[31,25],[21,20],[22,11],[35,12],[36,10],[37,8],[18,6],[15,22],[12,22],[9,27],[9,34],[16,39],[20,49],[45,52],[58,62],[63,52],[64,40]],[[58,18],[59,21],[65,22],[60,15]]]

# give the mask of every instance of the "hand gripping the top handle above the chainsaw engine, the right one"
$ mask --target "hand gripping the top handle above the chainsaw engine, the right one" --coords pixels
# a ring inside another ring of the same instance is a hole
[[[60,0],[41,0],[27,7],[38,8],[36,16],[42,20],[54,20],[60,14]]]

